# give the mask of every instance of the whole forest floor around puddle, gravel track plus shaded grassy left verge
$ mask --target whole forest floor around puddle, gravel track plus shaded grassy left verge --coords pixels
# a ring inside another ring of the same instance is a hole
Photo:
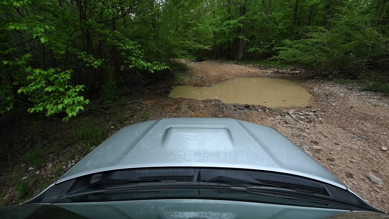
[[[264,77],[292,80],[304,87],[312,98],[308,107],[268,108],[259,105],[225,104],[219,100],[195,100],[168,97],[172,79],[155,82],[148,88],[131,92],[128,102],[107,111],[89,110],[67,123],[60,119],[37,119],[31,116],[6,123],[2,142],[8,148],[33,148],[42,142],[45,151],[37,157],[41,165],[20,161],[23,154],[8,149],[0,181],[3,206],[17,204],[38,194],[47,185],[88,154],[106,137],[125,125],[166,117],[221,117],[260,123],[276,128],[302,147],[314,159],[373,205],[389,211],[389,98],[360,91],[357,84],[340,85],[323,79],[305,79],[303,71],[252,67],[223,62],[187,63],[185,85],[212,86],[227,79]],[[42,121],[41,121],[42,120]],[[84,126],[80,124],[84,124]],[[92,129],[93,128],[93,129]],[[82,133],[96,141],[79,140]],[[79,133],[81,132],[81,134]],[[68,140],[69,133],[75,133]],[[100,133],[100,134],[99,134]],[[96,136],[96,134],[98,134]],[[62,137],[61,137],[62,136]],[[60,151],[59,149],[60,148]],[[31,149],[37,156],[39,150]],[[57,151],[55,153],[55,151]],[[40,153],[40,152],[39,152]],[[11,154],[11,155],[10,155]],[[14,159],[14,161],[12,161]],[[34,160],[35,161],[35,160]],[[34,166],[35,165],[35,166]],[[16,182],[16,183],[15,183]],[[23,185],[23,187],[21,187]],[[22,198],[18,198],[22,196]]]

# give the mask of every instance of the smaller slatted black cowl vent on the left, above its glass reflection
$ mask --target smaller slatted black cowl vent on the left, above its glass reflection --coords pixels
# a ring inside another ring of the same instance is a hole
[[[175,180],[177,182],[191,182],[195,171],[191,170],[157,170],[157,171],[137,171],[135,176],[142,180]]]

